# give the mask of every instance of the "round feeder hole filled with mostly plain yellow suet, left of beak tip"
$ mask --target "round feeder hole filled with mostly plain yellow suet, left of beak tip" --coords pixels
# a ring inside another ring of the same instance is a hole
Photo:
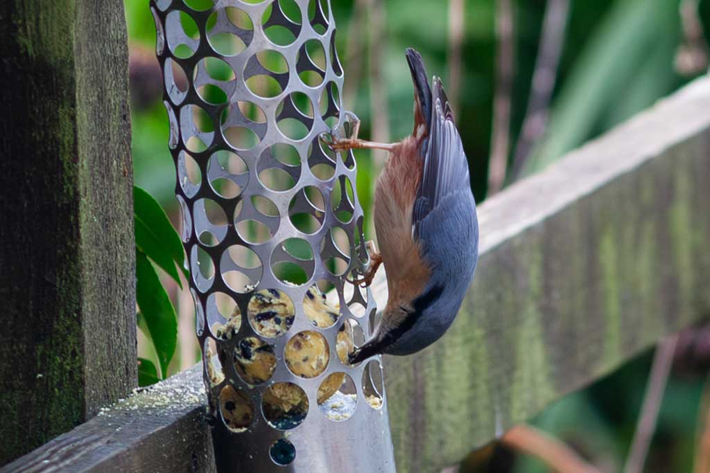
[[[286,343],[286,366],[298,377],[315,378],[328,367],[330,350],[325,337],[314,330],[299,332]]]

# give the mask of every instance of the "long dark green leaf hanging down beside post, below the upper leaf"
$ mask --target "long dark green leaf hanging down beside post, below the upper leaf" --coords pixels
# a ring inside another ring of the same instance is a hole
[[[148,257],[136,249],[136,300],[165,376],[178,343],[178,317]],[[142,322],[142,321],[141,321]]]

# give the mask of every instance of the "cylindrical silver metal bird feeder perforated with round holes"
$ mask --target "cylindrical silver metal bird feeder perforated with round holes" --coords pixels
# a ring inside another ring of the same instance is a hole
[[[151,11],[219,471],[394,472],[329,1]]]

